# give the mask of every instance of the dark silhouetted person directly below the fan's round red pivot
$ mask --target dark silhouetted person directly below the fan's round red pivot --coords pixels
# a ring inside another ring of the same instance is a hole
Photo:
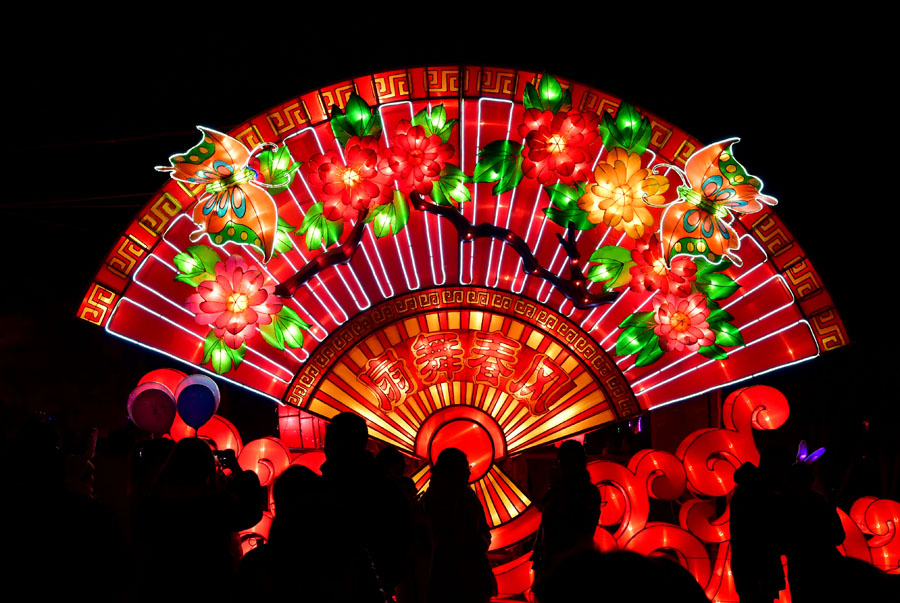
[[[465,453],[447,448],[438,455],[422,496],[431,526],[428,603],[487,603],[497,594],[487,558],[491,533],[469,476]]]

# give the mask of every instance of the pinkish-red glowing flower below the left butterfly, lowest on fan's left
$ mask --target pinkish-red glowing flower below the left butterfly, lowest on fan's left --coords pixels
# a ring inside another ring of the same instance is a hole
[[[233,255],[216,264],[215,280],[200,283],[185,305],[195,314],[197,324],[213,327],[216,337],[237,349],[253,335],[255,326],[271,323],[272,316],[281,311],[275,287],[264,283],[259,270]]]

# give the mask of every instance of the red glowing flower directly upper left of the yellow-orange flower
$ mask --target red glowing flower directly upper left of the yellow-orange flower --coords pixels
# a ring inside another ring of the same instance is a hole
[[[519,126],[525,138],[522,173],[545,186],[588,180],[593,155],[587,147],[600,138],[599,121],[597,115],[578,111],[527,110]]]

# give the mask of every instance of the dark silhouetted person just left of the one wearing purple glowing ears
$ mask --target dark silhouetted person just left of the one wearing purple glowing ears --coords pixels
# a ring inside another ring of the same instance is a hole
[[[764,451],[759,468],[744,463],[734,473],[731,497],[731,571],[743,603],[772,603],[784,590],[781,563],[783,505],[777,456]]]

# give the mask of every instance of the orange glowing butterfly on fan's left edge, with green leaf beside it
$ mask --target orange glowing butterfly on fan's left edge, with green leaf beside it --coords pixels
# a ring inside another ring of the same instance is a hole
[[[286,190],[299,167],[287,149],[263,143],[248,151],[239,140],[202,126],[203,139],[185,153],[169,157],[170,166],[157,167],[175,180],[206,184],[194,206],[193,219],[199,229],[192,241],[209,235],[215,245],[233,241],[258,248],[268,262],[275,249],[278,207],[269,190]],[[259,170],[249,167],[259,160]],[[286,167],[286,169],[285,169]]]

